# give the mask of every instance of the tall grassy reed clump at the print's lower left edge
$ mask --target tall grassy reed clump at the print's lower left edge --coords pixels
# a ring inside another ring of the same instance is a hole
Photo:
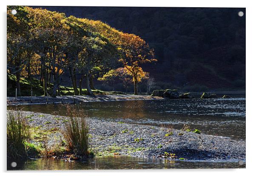
[[[26,157],[25,142],[29,139],[29,126],[19,111],[7,112],[7,157]]]

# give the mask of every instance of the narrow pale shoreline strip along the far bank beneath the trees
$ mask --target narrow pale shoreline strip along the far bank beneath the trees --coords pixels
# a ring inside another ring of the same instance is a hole
[[[150,95],[75,95],[75,96],[57,96],[56,98],[47,96],[19,96],[7,97],[8,105],[29,105],[29,104],[68,104],[82,102],[113,102],[113,101],[129,101],[129,100],[156,100],[164,99],[163,97]]]

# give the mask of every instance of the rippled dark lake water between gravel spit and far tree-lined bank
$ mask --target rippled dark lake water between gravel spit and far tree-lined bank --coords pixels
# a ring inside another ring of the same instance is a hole
[[[65,105],[19,106],[23,110],[65,115]],[[173,124],[181,129],[188,124],[205,134],[245,140],[245,98],[164,99],[79,104],[88,117],[136,124]]]

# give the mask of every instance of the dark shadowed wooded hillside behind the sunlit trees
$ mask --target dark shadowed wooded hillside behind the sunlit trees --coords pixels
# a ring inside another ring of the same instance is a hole
[[[237,14],[245,8],[41,8],[101,20],[140,36],[158,59],[143,69],[159,84],[245,88],[245,15]]]

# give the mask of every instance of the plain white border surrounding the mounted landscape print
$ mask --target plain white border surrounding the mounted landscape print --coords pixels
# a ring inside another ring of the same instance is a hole
[[[130,174],[147,174],[156,175],[160,174],[177,174],[177,175],[208,175],[216,176],[222,174],[232,174],[232,175],[247,175],[253,171],[255,168],[255,124],[256,115],[254,115],[255,109],[255,66],[256,66],[256,56],[255,56],[255,41],[256,41],[256,5],[253,0],[91,0],[91,1],[81,1],[81,0],[9,0],[7,2],[1,1],[1,55],[0,66],[1,66],[1,81],[5,84],[0,87],[1,92],[1,136],[2,145],[1,147],[1,159],[0,167],[2,172],[6,172],[6,5],[40,5],[40,6],[148,6],[148,7],[237,7],[246,8],[246,169],[178,169],[178,170],[65,170],[57,171],[61,175],[70,175],[73,172],[90,174],[90,175],[130,175]],[[253,94],[254,93],[254,94]],[[19,175],[34,175],[45,176],[46,173],[56,171],[21,171]],[[5,175],[6,173],[4,173]],[[16,172],[9,172],[8,174],[17,175]],[[82,175],[82,174],[81,174]]]

